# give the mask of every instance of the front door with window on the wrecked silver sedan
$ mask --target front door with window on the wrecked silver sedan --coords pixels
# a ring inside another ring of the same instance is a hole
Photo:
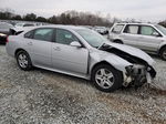
[[[54,69],[86,74],[89,51],[85,48],[71,46],[73,41],[80,40],[64,29],[56,29],[54,43],[52,43],[52,64]]]

